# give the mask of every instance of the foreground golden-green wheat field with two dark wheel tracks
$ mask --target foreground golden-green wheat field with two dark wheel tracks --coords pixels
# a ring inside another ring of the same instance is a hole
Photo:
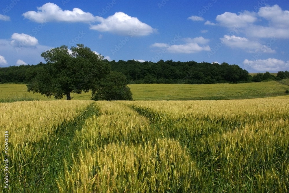
[[[0,103],[10,192],[288,192],[288,108],[284,96]]]

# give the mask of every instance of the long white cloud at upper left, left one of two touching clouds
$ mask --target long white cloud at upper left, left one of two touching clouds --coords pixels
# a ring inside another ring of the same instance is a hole
[[[73,8],[72,11],[63,11],[54,3],[46,3],[41,7],[37,7],[37,12],[28,11],[22,15],[25,18],[38,23],[43,21],[93,22],[99,18],[99,16],[93,16],[91,13],[84,12],[79,8]]]

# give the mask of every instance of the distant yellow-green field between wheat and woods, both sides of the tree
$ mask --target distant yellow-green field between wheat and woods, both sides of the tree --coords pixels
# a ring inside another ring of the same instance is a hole
[[[287,84],[287,85],[286,85]],[[133,84],[128,85],[134,100],[223,100],[247,99],[286,95],[289,89],[287,80],[282,83],[270,81],[244,84]],[[91,93],[71,94],[73,100],[90,100]],[[28,98],[53,100],[39,93],[27,92],[23,84],[0,84],[0,100],[7,98]],[[13,101],[13,100],[12,100]]]

